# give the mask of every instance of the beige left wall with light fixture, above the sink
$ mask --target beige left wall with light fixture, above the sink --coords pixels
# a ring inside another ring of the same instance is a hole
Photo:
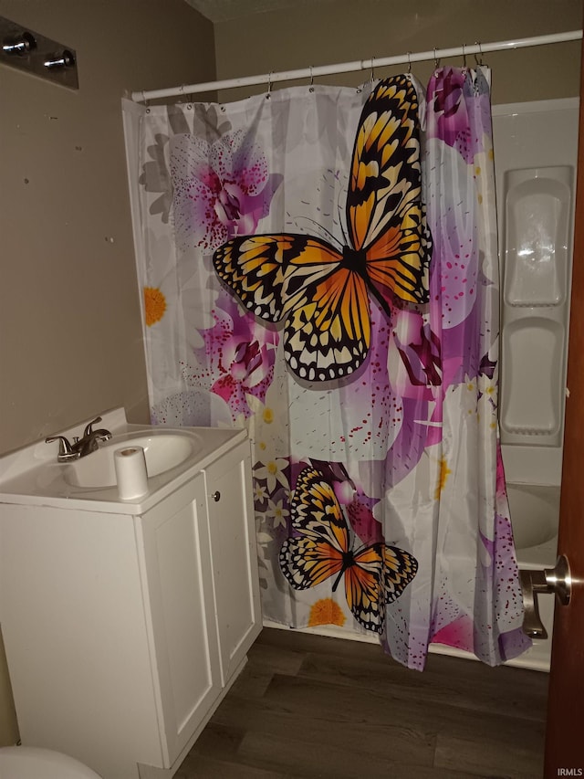
[[[148,421],[120,99],[214,79],[183,0],[0,0],[78,91],[0,66],[0,452],[123,405]],[[0,640],[0,745],[16,740]]]

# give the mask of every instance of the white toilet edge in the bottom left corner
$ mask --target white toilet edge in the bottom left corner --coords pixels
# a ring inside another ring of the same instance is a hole
[[[100,779],[68,754],[28,746],[0,748],[0,779]]]

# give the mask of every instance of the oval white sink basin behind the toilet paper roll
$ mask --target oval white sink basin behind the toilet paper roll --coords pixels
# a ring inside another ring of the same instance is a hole
[[[142,447],[148,477],[176,468],[194,452],[196,437],[188,433],[121,435],[101,444],[96,452],[75,460],[64,469],[65,480],[74,487],[101,489],[117,484],[114,452],[128,447]]]

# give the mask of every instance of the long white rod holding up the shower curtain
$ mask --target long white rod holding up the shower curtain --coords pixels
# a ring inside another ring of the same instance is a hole
[[[276,81],[291,81],[294,79],[314,79],[317,76],[331,76],[333,73],[350,73],[355,70],[372,70],[384,68],[387,65],[404,65],[412,62],[422,62],[428,59],[443,59],[449,57],[465,57],[469,54],[483,56],[489,51],[506,51],[510,48],[526,48],[531,46],[545,46],[550,43],[566,43],[570,40],[580,40],[582,30],[571,30],[565,33],[554,33],[547,36],[524,37],[517,40],[497,41],[496,43],[479,43],[472,46],[459,46],[454,48],[433,48],[432,51],[407,52],[397,57],[371,57],[370,59],[357,59],[354,62],[342,62],[338,65],[318,65],[314,68],[299,68],[297,70],[282,70],[279,73],[267,73],[262,76],[245,76],[241,79],[224,79],[223,81],[206,81],[203,84],[190,84],[169,89],[151,89],[150,91],[137,91],[131,93],[131,99],[135,102],[156,100],[158,98],[171,98],[177,95],[192,95],[201,92],[211,92],[214,89],[234,89],[235,87],[251,87],[256,84],[266,84],[271,89]]]

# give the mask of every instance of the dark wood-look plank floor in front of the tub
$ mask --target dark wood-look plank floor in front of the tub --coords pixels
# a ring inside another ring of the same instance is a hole
[[[547,674],[264,628],[175,779],[540,779]]]

